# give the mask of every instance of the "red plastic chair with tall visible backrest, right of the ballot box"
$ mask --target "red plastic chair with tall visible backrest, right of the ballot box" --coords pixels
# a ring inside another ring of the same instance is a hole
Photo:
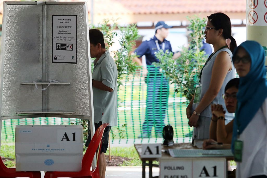
[[[90,171],[93,158],[97,151],[97,148],[101,148],[102,145],[102,136],[106,126],[108,123],[100,125],[100,127],[96,130],[82,160],[82,169],[79,172],[46,172],[45,178],[57,178],[57,177],[73,177],[73,178],[99,178],[99,156],[100,156],[100,149],[98,149],[97,155],[97,163],[96,167]]]

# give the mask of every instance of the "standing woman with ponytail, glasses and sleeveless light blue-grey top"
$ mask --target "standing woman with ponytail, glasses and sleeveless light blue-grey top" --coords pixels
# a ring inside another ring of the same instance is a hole
[[[231,61],[232,51],[236,48],[231,36],[230,18],[223,13],[208,16],[205,39],[213,45],[214,53],[207,59],[200,73],[199,85],[186,108],[189,126],[193,126],[194,139],[209,139],[211,105],[222,104],[226,110],[222,93],[229,80],[234,78],[235,70]],[[225,123],[233,119],[233,114],[226,111]]]

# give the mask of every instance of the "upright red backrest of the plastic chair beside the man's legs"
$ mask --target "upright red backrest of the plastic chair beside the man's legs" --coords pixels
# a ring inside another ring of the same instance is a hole
[[[95,156],[95,153],[97,151],[97,148],[102,145],[102,137],[103,137],[103,133],[105,128],[108,126],[108,123],[104,123],[102,125],[99,126],[99,128],[96,130],[92,140],[90,141],[88,148],[84,154],[83,160],[82,160],[82,170],[83,169],[90,169],[92,162],[93,162],[93,158]],[[98,165],[98,161],[99,161],[99,155],[100,155],[100,150],[98,152],[97,155],[97,163],[96,163],[96,167]]]

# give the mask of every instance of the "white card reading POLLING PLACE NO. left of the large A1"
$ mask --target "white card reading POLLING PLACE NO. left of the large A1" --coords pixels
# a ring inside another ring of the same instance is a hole
[[[190,178],[192,177],[191,159],[160,159],[160,178]]]

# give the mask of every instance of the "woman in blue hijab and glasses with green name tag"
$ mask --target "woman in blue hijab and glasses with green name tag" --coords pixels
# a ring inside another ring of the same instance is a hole
[[[256,41],[235,49],[233,63],[240,77],[232,151],[236,177],[267,178],[267,83],[265,51]]]

